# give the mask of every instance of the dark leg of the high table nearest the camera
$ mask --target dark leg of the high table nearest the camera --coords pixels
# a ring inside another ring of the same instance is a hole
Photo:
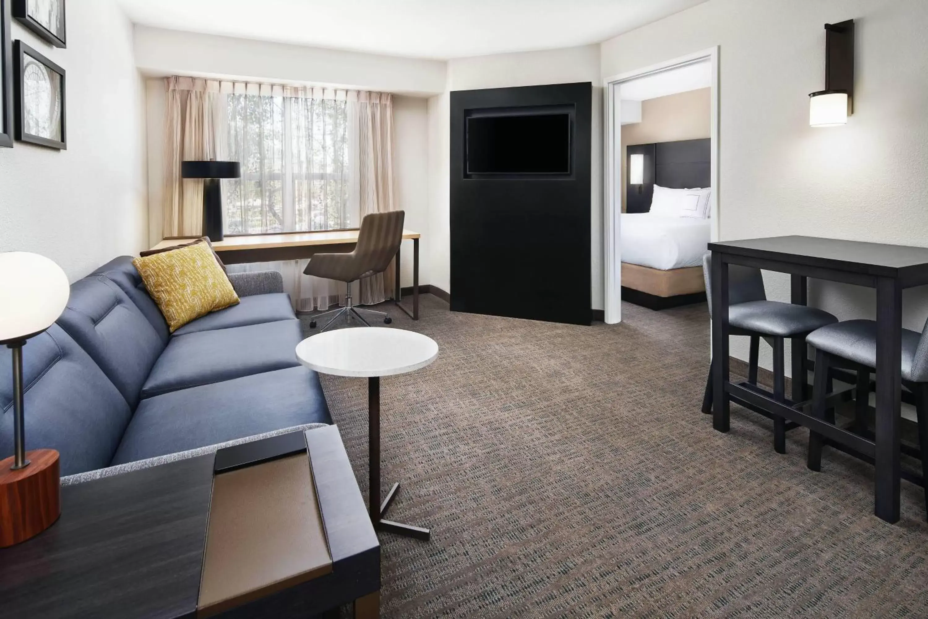
[[[899,403],[902,389],[902,290],[881,277],[876,286],[876,515],[899,521]]]

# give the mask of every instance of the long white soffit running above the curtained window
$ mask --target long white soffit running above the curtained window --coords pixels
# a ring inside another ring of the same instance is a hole
[[[313,83],[434,95],[445,62],[396,58],[213,34],[135,27],[135,62],[148,76],[193,75],[273,84]]]

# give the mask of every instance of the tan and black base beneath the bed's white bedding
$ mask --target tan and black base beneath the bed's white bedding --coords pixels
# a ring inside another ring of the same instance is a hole
[[[662,271],[622,263],[622,300],[652,310],[705,303],[701,266]]]

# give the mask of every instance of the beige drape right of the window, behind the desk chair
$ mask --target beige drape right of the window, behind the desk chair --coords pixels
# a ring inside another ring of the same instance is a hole
[[[365,93],[358,97],[358,185],[361,217],[396,208],[393,190],[393,97]],[[393,298],[395,260],[386,272],[358,282],[359,303],[381,303]]]

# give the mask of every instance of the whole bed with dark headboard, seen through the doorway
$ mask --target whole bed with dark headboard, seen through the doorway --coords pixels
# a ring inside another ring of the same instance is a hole
[[[652,213],[651,205],[655,186],[710,186],[709,145],[706,138],[627,147],[629,162],[633,154],[644,155],[644,182],[627,184],[619,227],[624,301],[655,310],[705,302],[702,254],[711,220]]]

